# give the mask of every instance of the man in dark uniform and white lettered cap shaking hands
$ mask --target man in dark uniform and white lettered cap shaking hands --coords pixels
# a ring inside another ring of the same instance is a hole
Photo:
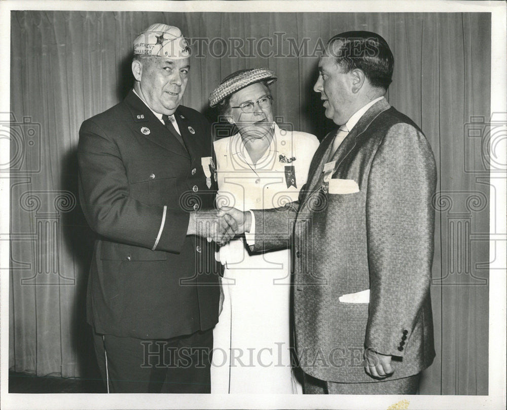
[[[98,234],[87,316],[111,392],[209,392],[210,238],[233,233],[212,210],[210,126],[180,106],[189,69],[181,31],[153,24],[134,41],[133,90],[80,129],[81,206]]]

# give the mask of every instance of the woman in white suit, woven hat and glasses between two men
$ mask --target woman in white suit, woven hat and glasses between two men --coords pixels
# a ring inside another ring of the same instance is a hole
[[[210,106],[238,130],[213,144],[218,206],[277,208],[297,200],[306,183],[319,142],[273,121],[274,81],[269,69],[241,70],[210,94]],[[213,332],[211,393],[301,393],[291,363],[290,253],[250,255],[245,240],[248,234],[217,255],[224,305]]]

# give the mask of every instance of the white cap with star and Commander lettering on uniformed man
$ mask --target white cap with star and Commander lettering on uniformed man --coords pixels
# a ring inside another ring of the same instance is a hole
[[[134,54],[180,60],[190,56],[190,48],[178,27],[157,23],[152,24],[134,40]]]

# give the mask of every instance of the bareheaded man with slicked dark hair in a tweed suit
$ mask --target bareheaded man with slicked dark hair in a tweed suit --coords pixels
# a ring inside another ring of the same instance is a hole
[[[339,127],[297,203],[225,209],[255,251],[294,252],[296,351],[305,393],[410,394],[434,358],[429,295],[436,166],[384,94],[393,56],[376,33],[333,37],[314,90]]]

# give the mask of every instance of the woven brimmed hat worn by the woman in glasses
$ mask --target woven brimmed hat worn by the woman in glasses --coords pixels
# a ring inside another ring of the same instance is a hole
[[[263,80],[271,84],[274,83],[277,78],[273,70],[265,68],[236,71],[222,80],[220,85],[209,94],[209,106],[216,106],[228,95],[250,84],[258,83]]]

